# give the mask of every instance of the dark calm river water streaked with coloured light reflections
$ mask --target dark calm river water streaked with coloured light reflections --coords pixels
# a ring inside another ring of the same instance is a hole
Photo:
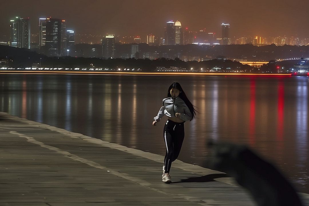
[[[175,81],[198,110],[181,161],[205,167],[209,140],[246,144],[309,193],[307,77],[3,74],[0,110],[164,155],[166,117],[152,121]]]

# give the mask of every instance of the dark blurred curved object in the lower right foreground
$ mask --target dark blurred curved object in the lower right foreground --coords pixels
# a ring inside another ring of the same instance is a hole
[[[225,172],[247,188],[259,206],[302,206],[296,191],[269,162],[244,145],[209,143],[214,147],[211,169]]]

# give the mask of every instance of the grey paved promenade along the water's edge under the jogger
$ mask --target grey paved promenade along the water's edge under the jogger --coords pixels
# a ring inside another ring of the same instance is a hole
[[[256,205],[225,174],[0,112],[0,205]],[[300,194],[309,205],[307,194]]]

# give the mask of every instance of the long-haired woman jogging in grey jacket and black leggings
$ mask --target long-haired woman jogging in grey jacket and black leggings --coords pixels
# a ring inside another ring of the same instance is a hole
[[[195,111],[180,84],[178,82],[172,83],[168,88],[167,98],[163,99],[162,107],[152,122],[152,125],[156,126],[164,115],[168,117],[163,129],[166,154],[162,181],[165,183],[172,182],[169,173],[171,163],[177,159],[184,141],[184,122],[191,121],[195,116]]]

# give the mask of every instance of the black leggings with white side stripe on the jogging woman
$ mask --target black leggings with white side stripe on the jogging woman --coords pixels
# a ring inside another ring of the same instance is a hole
[[[163,129],[163,139],[166,146],[164,158],[165,173],[169,173],[171,164],[178,158],[182,142],[184,141],[184,122],[177,123],[167,120]]]

